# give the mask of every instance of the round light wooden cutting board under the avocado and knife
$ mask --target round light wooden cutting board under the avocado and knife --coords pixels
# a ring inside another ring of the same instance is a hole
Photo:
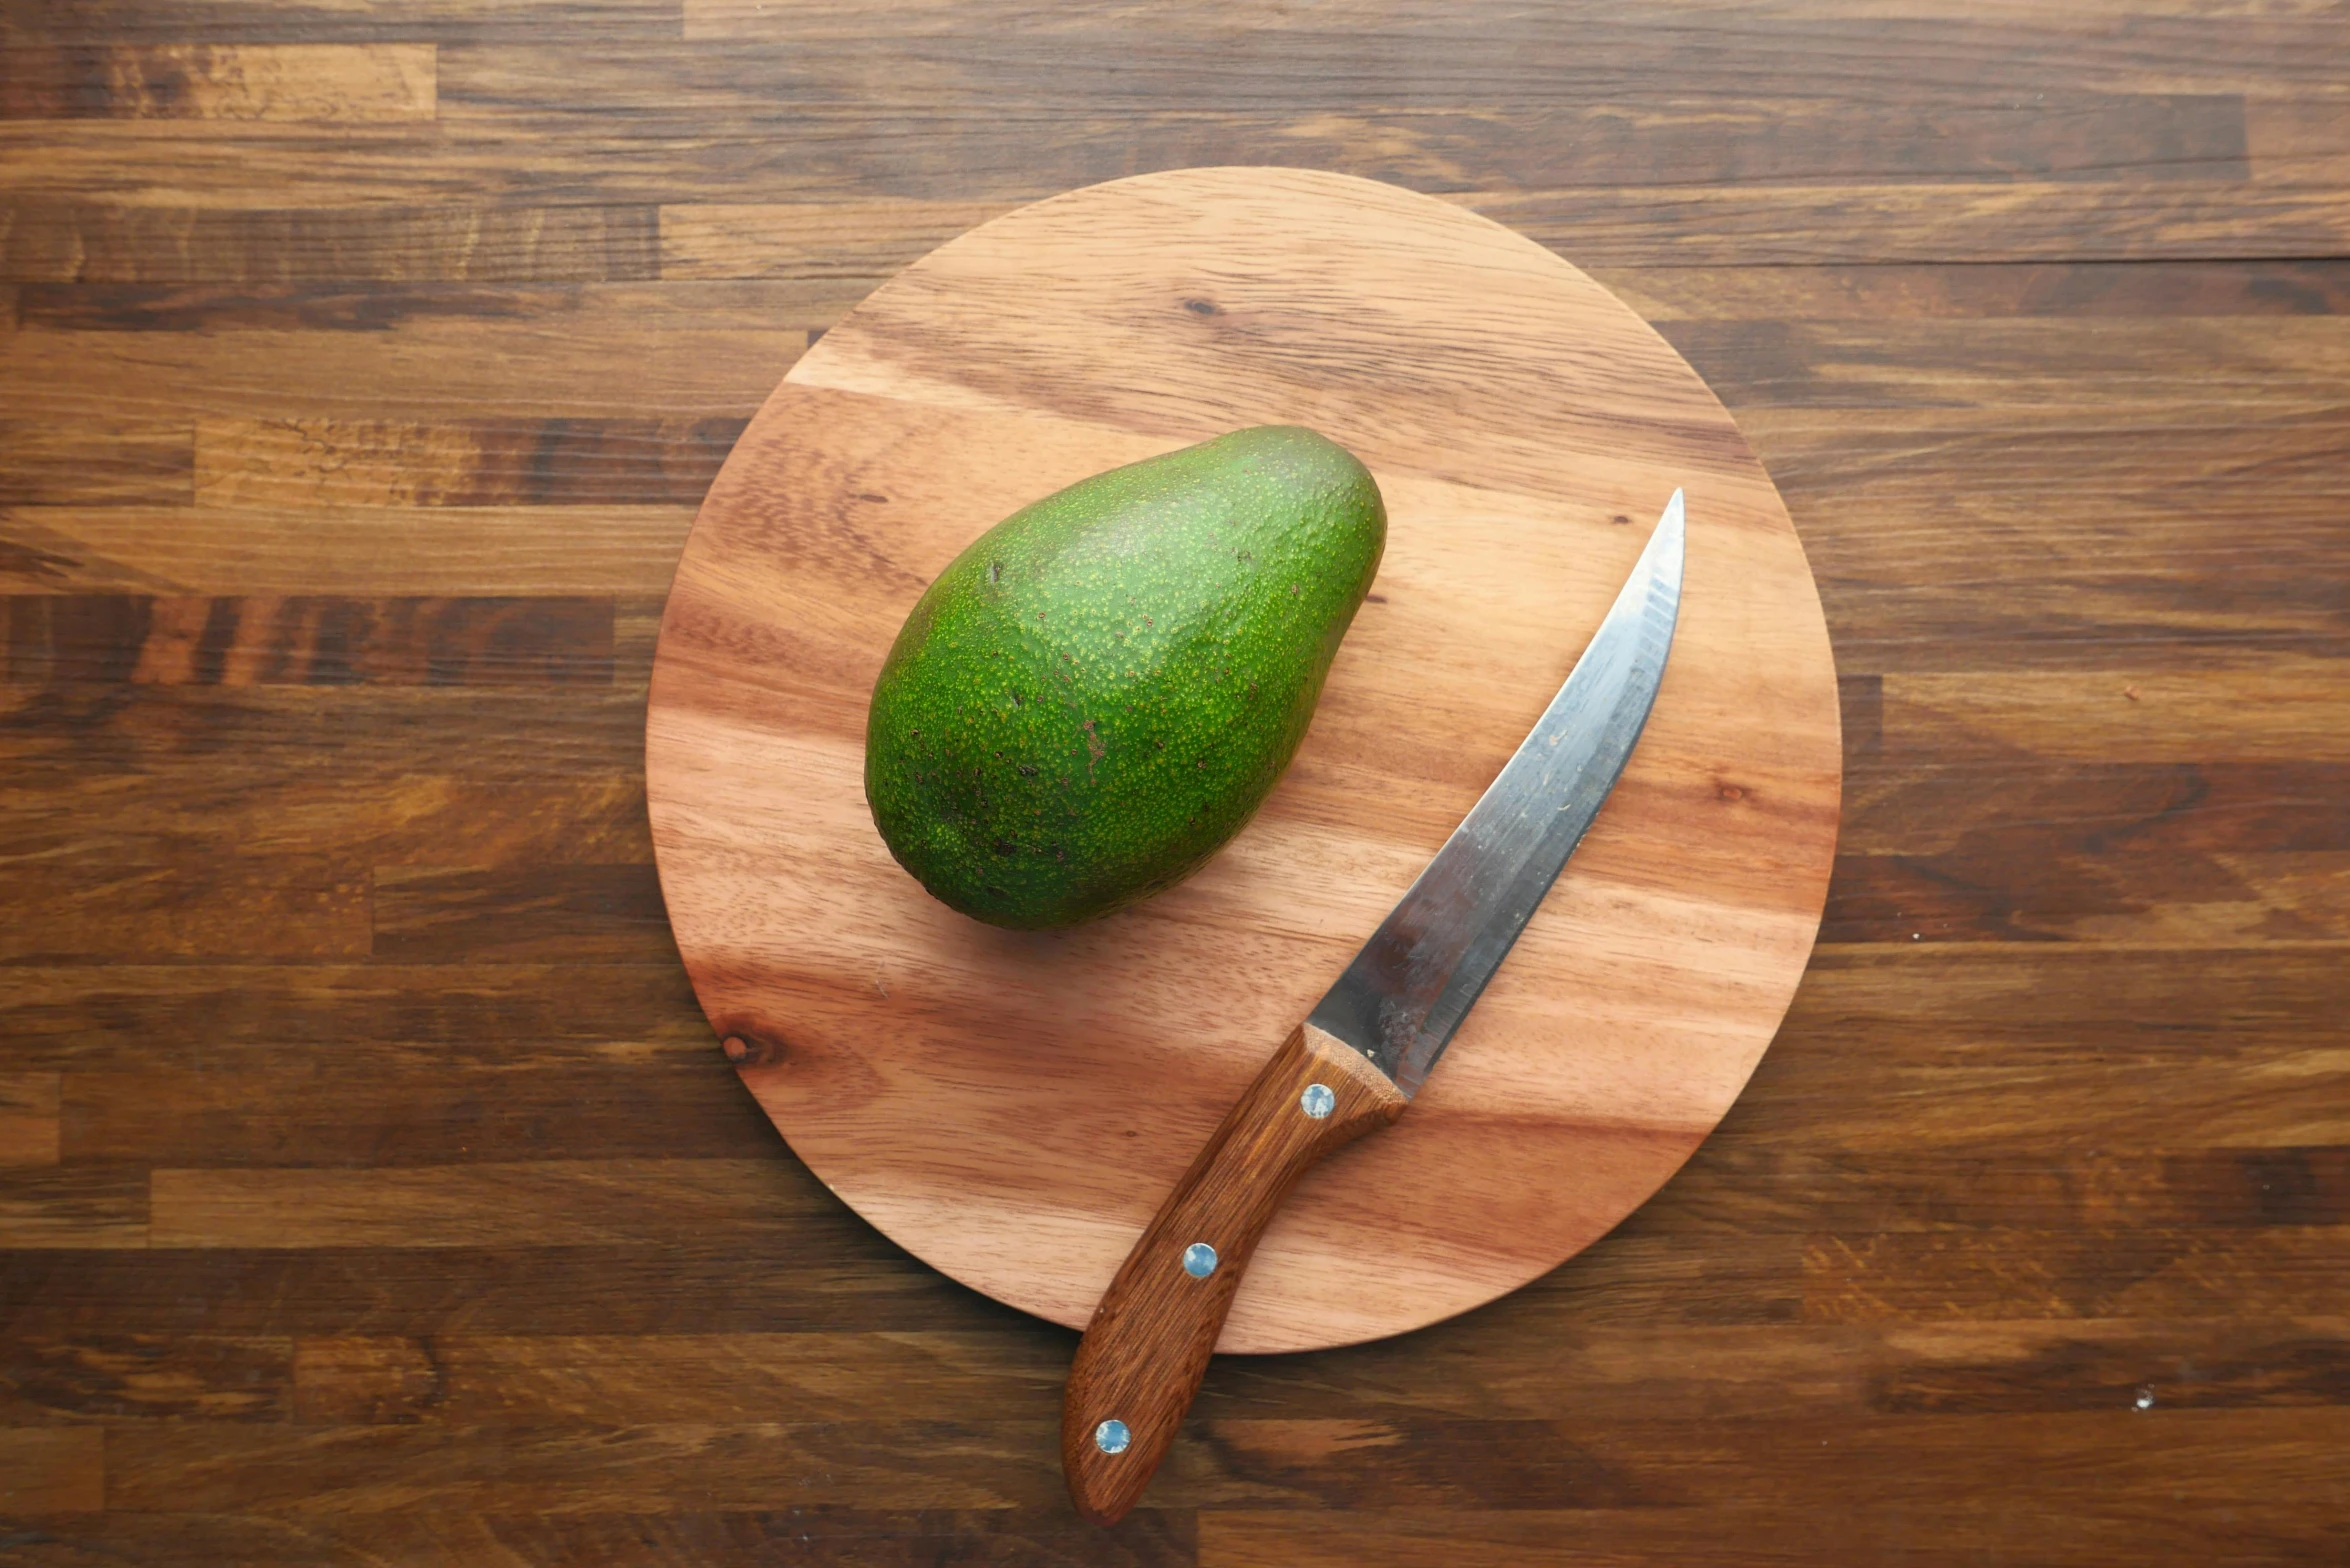
[[[1342,442],[1389,505],[1281,788],[1198,877],[1093,926],[996,931],[935,903],[862,788],[865,703],[907,609],[1015,508],[1257,423]],[[1410,1114],[1274,1220],[1222,1349],[1488,1302],[1713,1128],[1828,886],[1819,595],[1697,371],[1459,207],[1182,169],[916,261],[743,433],[660,625],[660,884],[743,1081],[900,1246],[1083,1326],[1217,1117],[1532,726],[1673,487],[1680,635],[1622,785]]]

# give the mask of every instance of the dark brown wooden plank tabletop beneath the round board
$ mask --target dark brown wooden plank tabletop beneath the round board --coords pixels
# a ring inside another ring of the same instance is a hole
[[[0,1561],[2343,1563],[2350,9],[0,5]],[[663,919],[728,442],[961,228],[1285,162],[1591,268],[1786,491],[1819,954],[1687,1171],[1213,1368],[834,1201]]]

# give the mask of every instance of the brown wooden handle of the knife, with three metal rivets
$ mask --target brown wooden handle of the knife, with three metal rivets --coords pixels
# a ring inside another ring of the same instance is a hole
[[[1257,1237],[1297,1178],[1408,1103],[1335,1034],[1309,1023],[1290,1032],[1093,1309],[1060,1415],[1060,1462],[1079,1514],[1116,1523],[1149,1486],[1208,1375]]]

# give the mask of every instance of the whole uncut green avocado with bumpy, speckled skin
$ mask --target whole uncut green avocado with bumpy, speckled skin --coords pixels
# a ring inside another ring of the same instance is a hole
[[[891,853],[1018,931],[1175,886],[1288,769],[1384,545],[1370,470],[1297,425],[1020,508],[931,583],[874,684]]]

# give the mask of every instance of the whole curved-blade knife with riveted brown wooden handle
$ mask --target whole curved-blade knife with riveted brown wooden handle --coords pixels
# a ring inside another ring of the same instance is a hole
[[[1412,1103],[1631,757],[1680,618],[1680,491],[1535,731],[1290,1030],[1159,1206],[1076,1347],[1060,1460],[1116,1523],[1182,1425],[1267,1222],[1323,1154]]]

